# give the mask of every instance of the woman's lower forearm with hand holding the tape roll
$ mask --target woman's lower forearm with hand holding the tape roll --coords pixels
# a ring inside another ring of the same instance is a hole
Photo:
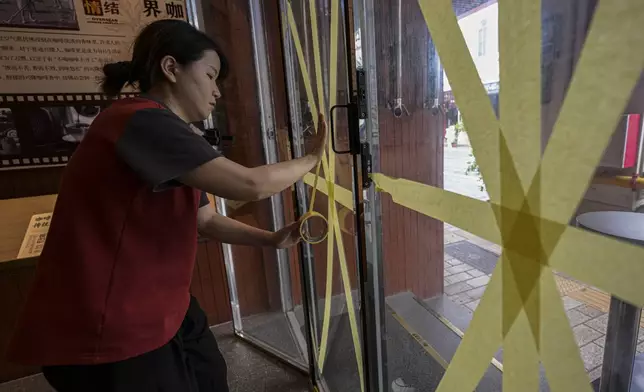
[[[288,248],[299,241],[299,224],[294,222],[277,232],[258,229],[218,214],[212,205],[199,208],[199,234],[232,245]]]

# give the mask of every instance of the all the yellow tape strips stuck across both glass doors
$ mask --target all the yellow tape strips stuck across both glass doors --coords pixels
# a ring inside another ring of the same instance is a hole
[[[634,264],[644,259],[644,249],[568,226],[644,67],[644,51],[639,50],[644,47],[644,34],[639,31],[644,26],[644,2],[599,2],[543,157],[540,2],[499,1],[500,119],[478,78],[452,1],[418,3],[465,119],[491,200],[486,203],[381,173],[374,173],[373,181],[395,203],[503,246],[500,262],[438,390],[475,389],[492,356],[503,345],[504,390],[536,390],[541,361],[552,390],[590,391],[553,269],[644,306],[644,290],[640,288],[644,269]],[[332,26],[337,23],[337,7],[334,0]],[[296,30],[290,5],[288,17],[291,29]],[[317,18],[313,19],[311,25],[317,29]],[[336,29],[332,27],[332,34]],[[293,37],[307,97],[315,106],[297,31]],[[334,56],[337,36],[331,42]],[[333,69],[337,61],[331,64]],[[316,75],[320,75],[319,58],[315,67]],[[332,83],[337,83],[337,73],[333,75]],[[319,107],[325,108],[320,86],[318,79]],[[332,95],[329,103],[334,99]],[[360,342],[336,206],[337,201],[353,209],[353,201],[349,190],[334,183],[334,163],[332,153],[328,161],[323,161],[326,186],[312,174],[304,180],[314,191],[329,197],[331,236],[327,245],[332,249],[337,240],[362,379]],[[333,260],[327,260],[327,271],[333,273]],[[330,292],[327,282],[327,302]],[[325,322],[328,317],[325,309]],[[328,346],[328,324],[323,331],[323,349],[318,357],[321,366]]]

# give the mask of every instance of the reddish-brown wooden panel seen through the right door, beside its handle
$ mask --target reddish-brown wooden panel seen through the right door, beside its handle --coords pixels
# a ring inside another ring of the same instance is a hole
[[[409,116],[395,118],[396,13],[394,1],[376,7],[380,171],[423,184],[443,185],[443,120],[431,108],[438,96],[430,62],[431,39],[417,3],[403,7],[402,98]],[[383,195],[385,293],[412,291],[428,298],[443,289],[443,224]]]

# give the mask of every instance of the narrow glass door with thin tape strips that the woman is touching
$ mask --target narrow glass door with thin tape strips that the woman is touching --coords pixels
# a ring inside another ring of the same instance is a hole
[[[299,214],[314,215],[311,233],[324,241],[300,249],[303,306],[310,370],[321,390],[364,391],[364,230],[356,224],[362,208],[362,162],[355,30],[351,2],[280,2],[283,52],[294,156],[307,152],[307,135],[318,129],[318,113],[329,128],[328,153],[319,170],[297,184]],[[357,212],[357,213],[356,213]],[[326,223],[319,216],[326,219]]]

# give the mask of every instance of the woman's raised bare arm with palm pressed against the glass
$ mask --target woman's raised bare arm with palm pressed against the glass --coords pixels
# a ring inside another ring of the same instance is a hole
[[[314,148],[304,157],[272,165],[247,168],[226,158],[216,158],[189,171],[179,180],[191,187],[231,200],[265,199],[293,185],[322,159],[327,140],[324,118],[314,136]]]

